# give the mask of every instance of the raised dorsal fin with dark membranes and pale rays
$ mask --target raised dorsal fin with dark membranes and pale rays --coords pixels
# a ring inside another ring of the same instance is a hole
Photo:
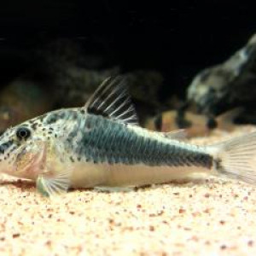
[[[137,125],[137,113],[131,103],[126,80],[121,76],[105,79],[84,105],[87,113]]]

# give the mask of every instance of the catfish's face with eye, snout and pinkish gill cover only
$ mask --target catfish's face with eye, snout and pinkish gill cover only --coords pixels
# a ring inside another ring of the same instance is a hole
[[[26,123],[5,131],[0,139],[0,172],[36,178],[44,166],[46,142]]]

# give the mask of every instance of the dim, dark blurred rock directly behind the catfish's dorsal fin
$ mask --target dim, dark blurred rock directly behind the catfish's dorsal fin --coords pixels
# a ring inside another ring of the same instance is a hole
[[[41,60],[38,69],[43,70],[44,77],[49,78],[48,84],[51,84],[58,108],[84,105],[104,79],[119,74],[126,78],[131,96],[142,116],[150,113],[147,109],[160,106],[159,90],[164,78],[157,71],[123,73],[121,67],[106,67],[103,57],[86,55],[79,44],[67,39],[47,45],[38,50],[37,55]]]

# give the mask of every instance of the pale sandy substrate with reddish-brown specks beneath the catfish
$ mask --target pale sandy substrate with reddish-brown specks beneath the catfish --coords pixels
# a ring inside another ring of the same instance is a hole
[[[49,200],[33,183],[1,177],[0,207],[0,255],[256,255],[256,187],[230,179]]]

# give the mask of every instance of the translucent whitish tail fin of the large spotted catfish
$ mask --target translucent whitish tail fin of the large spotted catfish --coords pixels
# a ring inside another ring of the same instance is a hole
[[[256,184],[256,131],[207,148],[218,174]]]

